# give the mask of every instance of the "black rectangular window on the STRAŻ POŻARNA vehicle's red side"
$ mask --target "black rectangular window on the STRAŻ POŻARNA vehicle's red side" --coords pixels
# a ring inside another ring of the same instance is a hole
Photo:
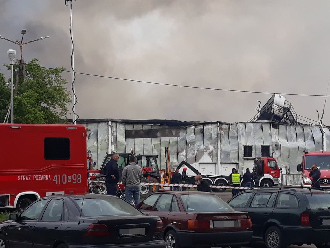
[[[70,159],[69,138],[45,138],[44,150],[46,160]]]

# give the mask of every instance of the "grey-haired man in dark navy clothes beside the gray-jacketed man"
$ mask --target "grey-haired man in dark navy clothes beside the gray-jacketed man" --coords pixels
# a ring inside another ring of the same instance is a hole
[[[107,186],[108,195],[116,195],[117,183],[119,180],[119,171],[117,161],[119,154],[115,153],[112,155],[109,162],[104,167],[104,174],[106,175],[105,185]]]

